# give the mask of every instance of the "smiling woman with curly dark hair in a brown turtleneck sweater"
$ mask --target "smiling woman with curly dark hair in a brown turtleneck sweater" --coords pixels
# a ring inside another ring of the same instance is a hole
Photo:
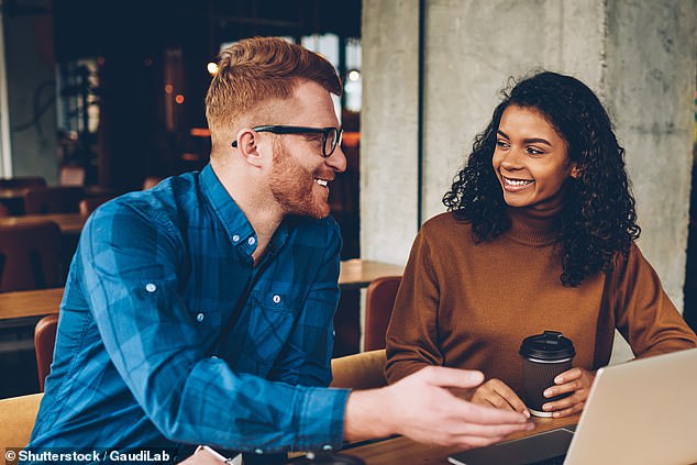
[[[494,111],[469,162],[411,250],[387,333],[389,383],[425,365],[480,369],[474,402],[529,414],[518,392],[525,336],[575,345],[543,410],[583,409],[615,329],[644,357],[697,345],[634,241],[624,151],[594,92],[540,73]]]

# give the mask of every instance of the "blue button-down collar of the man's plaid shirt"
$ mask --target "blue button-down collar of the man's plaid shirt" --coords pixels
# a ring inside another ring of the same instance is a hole
[[[254,252],[257,240],[254,228],[222,185],[210,164],[201,170],[201,192],[213,208],[232,244],[244,246],[250,254]],[[287,223],[284,220],[274,233],[269,243],[269,253],[275,254],[286,243],[288,239]]]

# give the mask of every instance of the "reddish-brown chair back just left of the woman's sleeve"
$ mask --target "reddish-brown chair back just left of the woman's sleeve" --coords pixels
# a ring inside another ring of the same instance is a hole
[[[385,334],[400,283],[401,276],[386,276],[368,285],[365,296],[364,351],[385,348]]]

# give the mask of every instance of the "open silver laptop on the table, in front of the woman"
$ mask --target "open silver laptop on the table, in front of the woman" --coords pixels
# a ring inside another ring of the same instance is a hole
[[[575,427],[447,460],[455,465],[697,463],[697,348],[600,368]]]

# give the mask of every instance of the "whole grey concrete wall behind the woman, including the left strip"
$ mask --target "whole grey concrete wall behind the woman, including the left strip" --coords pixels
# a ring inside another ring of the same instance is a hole
[[[421,82],[414,81],[414,3],[364,0],[363,257],[406,262],[416,234],[414,196],[421,196],[423,220],[444,211],[441,198],[490,120],[499,89],[510,76],[546,68],[585,81],[610,112],[627,148],[640,246],[682,309],[696,2],[427,0]],[[420,89],[421,123],[414,122]]]

